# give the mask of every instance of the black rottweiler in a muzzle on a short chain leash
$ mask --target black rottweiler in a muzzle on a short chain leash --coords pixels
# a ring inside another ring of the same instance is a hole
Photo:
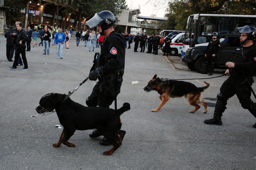
[[[125,136],[125,131],[120,130],[122,123],[120,115],[125,111],[130,110],[130,104],[124,103],[117,110],[101,107],[85,107],[74,102],[69,97],[65,98],[66,94],[50,93],[44,95],[39,102],[36,111],[39,114],[53,112],[55,109],[61,125],[64,127],[58,143],[53,144],[54,147],[59,147],[61,143],[68,147],[76,145],[68,142],[70,137],[76,130],[99,129],[102,131],[108,141],[113,144],[113,148],[103,153],[103,155],[111,155],[118,147],[121,146]],[[119,141],[116,142],[114,137],[118,134]]]

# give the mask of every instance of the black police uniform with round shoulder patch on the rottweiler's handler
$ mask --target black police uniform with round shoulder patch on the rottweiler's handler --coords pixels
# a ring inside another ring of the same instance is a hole
[[[100,55],[95,55],[93,67],[101,69],[101,77],[87,98],[88,106],[108,108],[120,93],[125,68],[125,40],[121,34],[112,31],[102,44]]]

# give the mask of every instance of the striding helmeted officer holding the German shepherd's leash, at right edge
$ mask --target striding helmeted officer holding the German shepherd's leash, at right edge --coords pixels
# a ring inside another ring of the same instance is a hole
[[[250,86],[253,84],[253,75],[256,71],[256,45],[253,43],[256,39],[256,28],[243,26],[237,30],[241,34],[242,45],[236,49],[232,62],[226,62],[228,69],[225,73],[230,77],[222,84],[217,95],[213,119],[204,121],[209,125],[222,125],[221,116],[226,109],[227,100],[235,94],[242,108],[248,109],[256,117],[256,103],[250,99]],[[256,127],[256,124],[253,127]]]

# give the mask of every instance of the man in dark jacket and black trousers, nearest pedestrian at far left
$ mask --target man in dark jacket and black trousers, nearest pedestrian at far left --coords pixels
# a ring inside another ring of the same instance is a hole
[[[24,29],[22,29],[22,25],[21,23],[17,24],[16,26],[17,28],[17,39],[16,41],[14,42],[16,44],[16,51],[15,51],[15,57],[14,57],[14,62],[13,62],[13,65],[12,67],[9,67],[10,70],[16,70],[17,68],[17,65],[18,65],[18,58],[21,54],[21,57],[22,57],[22,60],[23,60],[23,63],[24,63],[24,68],[22,68],[21,70],[28,70],[28,63],[27,63],[27,60],[26,60],[26,41],[28,41],[28,37],[27,37],[27,34],[26,34],[26,31]],[[12,34],[13,36],[16,36],[16,33],[13,33]]]

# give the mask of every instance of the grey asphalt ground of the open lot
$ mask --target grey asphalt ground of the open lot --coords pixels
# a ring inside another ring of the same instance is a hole
[[[207,114],[203,107],[189,113],[193,107],[184,97],[170,99],[160,111],[151,112],[160,100],[157,92],[146,93],[143,88],[154,74],[170,79],[208,76],[173,67],[160,51],[158,55],[134,53],[134,43],[126,49],[124,81],[117,97],[118,108],[124,102],[131,104],[131,110],[121,116],[126,131],[122,146],[112,156],[103,156],[112,146],[101,146],[102,137],[90,139],[91,130],[77,130],[69,140],[76,147],[52,147],[63,127],[55,127],[60,125],[56,113],[40,116],[35,108],[43,95],[67,94],[79,85],[88,76],[94,52],[100,49],[89,52],[89,44],[84,47],[82,41],[77,47],[72,38],[70,49],[63,49],[64,58],[56,59],[55,46],[50,47],[49,56],[42,55],[42,47],[32,47],[26,52],[29,70],[12,71],[3,35],[0,42],[0,170],[256,169],[256,129],[252,127],[256,119],[241,108],[237,97],[229,99],[222,126],[204,124],[212,118],[214,107],[208,107]],[[214,76],[221,74],[215,72]],[[209,106],[214,106],[225,79],[206,80],[210,87],[203,94]],[[139,84],[132,85],[132,81]],[[204,86],[202,79],[188,81]],[[95,83],[88,80],[71,99],[85,105]]]

